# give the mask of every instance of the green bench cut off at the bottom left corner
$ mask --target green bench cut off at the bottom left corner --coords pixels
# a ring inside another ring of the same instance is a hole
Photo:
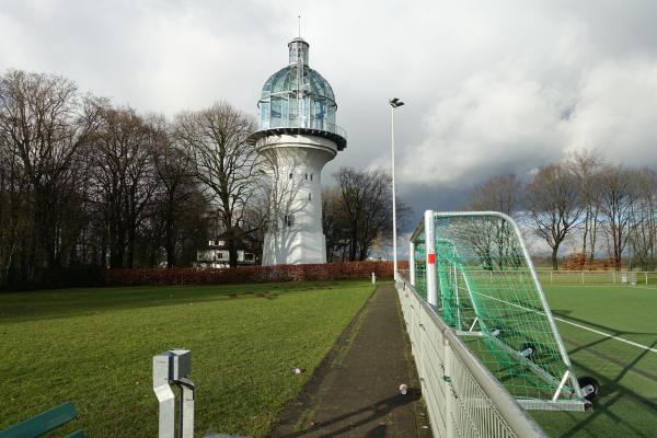
[[[58,428],[78,416],[72,403],[64,403],[30,419],[0,430],[0,438],[36,438]],[[82,430],[77,430],[66,438],[84,438]]]

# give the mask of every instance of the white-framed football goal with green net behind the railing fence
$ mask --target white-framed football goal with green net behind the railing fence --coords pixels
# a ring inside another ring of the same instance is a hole
[[[593,388],[583,391],[573,372],[511,218],[427,211],[411,249],[416,291],[521,405],[586,407]]]

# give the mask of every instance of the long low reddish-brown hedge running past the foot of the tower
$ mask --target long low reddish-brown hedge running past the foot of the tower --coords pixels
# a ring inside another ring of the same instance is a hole
[[[408,262],[399,262],[407,269]],[[392,278],[392,262],[346,262],[313,265],[244,266],[232,269],[215,268],[147,268],[110,269],[108,286],[221,285],[265,281],[347,280]]]

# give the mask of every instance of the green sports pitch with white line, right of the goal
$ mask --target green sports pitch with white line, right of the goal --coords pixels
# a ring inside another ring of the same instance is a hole
[[[657,436],[657,289],[543,283],[576,372],[601,396],[592,412],[534,418],[551,437]]]

